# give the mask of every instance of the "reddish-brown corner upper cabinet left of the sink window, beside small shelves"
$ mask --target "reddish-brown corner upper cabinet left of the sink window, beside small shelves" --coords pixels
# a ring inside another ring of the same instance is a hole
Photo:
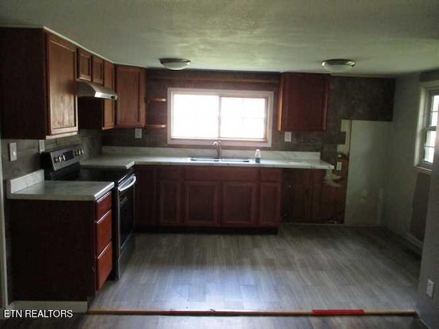
[[[145,69],[116,65],[116,127],[145,126]]]

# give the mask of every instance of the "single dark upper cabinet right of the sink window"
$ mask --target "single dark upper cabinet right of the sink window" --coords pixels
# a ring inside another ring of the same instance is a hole
[[[323,132],[329,75],[283,73],[278,102],[278,130]]]

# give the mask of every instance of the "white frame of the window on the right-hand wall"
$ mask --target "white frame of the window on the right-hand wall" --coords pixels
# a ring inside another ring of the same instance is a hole
[[[431,173],[431,169],[433,167],[433,164],[423,160],[425,136],[427,130],[429,130],[427,124],[429,121],[429,112],[431,110],[432,95],[439,95],[439,81],[424,82],[420,87],[414,166],[417,169],[420,169],[420,171],[424,171],[426,173]]]

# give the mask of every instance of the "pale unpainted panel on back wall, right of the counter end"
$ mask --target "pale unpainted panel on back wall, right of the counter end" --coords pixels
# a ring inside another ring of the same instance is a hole
[[[344,221],[381,225],[390,122],[352,121]]]

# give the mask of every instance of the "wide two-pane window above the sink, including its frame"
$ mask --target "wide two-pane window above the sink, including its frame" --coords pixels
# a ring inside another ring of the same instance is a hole
[[[168,143],[271,146],[273,92],[168,89]]]

